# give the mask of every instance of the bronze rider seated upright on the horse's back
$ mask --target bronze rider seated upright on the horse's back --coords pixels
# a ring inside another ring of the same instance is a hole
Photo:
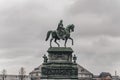
[[[64,40],[64,31],[65,28],[63,27],[63,20],[60,20],[58,27],[57,27],[57,32],[60,38]]]

